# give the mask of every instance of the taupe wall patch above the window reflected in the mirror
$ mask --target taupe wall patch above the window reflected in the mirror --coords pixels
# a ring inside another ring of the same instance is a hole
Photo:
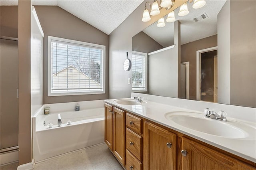
[[[162,45],[142,31],[132,37],[132,51],[150,53],[162,48]]]

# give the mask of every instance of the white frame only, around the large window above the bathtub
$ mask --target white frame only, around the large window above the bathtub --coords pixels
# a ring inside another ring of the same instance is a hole
[[[86,46],[91,46],[91,47],[97,47],[97,48],[102,48],[102,91],[72,91],[72,92],[52,92],[52,67],[51,67],[51,58],[52,58],[52,50],[51,50],[51,42],[52,40],[64,42],[64,43],[72,43],[72,44],[77,44],[77,45],[86,45]],[[94,43],[87,43],[87,42],[81,42],[81,41],[76,41],[76,40],[70,40],[70,39],[65,39],[65,38],[58,38],[58,37],[53,37],[53,36],[48,36],[47,40],[47,46],[48,46],[48,56],[47,56],[47,96],[69,96],[69,95],[92,95],[92,94],[105,94],[106,93],[106,46],[105,45],[99,45],[99,44],[94,44]]]

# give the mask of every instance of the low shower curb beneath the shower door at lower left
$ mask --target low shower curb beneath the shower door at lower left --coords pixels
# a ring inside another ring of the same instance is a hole
[[[0,154],[1,166],[17,162],[19,160],[19,150],[12,150]]]

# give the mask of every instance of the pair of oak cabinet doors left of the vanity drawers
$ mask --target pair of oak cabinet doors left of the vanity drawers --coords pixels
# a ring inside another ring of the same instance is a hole
[[[105,142],[125,166],[125,111],[105,103]]]

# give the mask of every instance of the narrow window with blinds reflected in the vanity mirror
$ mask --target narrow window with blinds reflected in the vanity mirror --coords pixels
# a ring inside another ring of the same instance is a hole
[[[147,54],[132,51],[132,91],[147,91]]]

